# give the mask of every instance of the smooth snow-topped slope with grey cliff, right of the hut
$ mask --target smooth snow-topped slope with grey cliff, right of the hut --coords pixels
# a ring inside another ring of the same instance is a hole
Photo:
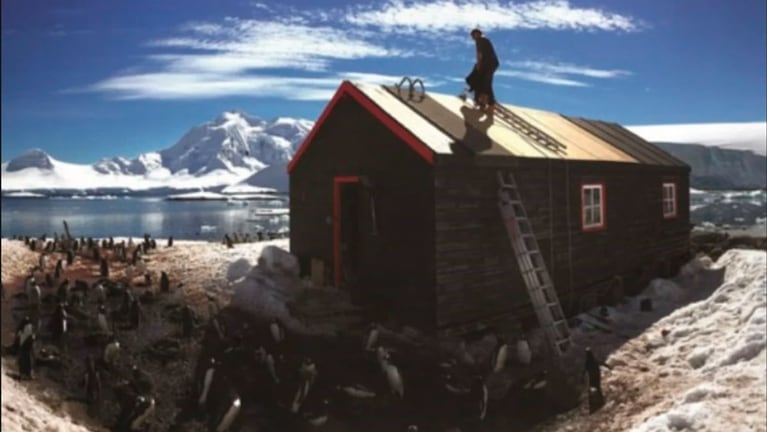
[[[692,168],[699,189],[767,187],[767,123],[630,126]]]

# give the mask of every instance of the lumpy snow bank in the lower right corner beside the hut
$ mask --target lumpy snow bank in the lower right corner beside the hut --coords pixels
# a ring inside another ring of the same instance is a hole
[[[641,298],[653,300],[653,311],[639,312]],[[731,249],[716,263],[698,257],[673,280],[656,279],[610,308],[616,333],[642,326],[628,342],[588,326],[574,332],[617,350],[605,373],[607,404],[568,419],[573,430],[767,431],[767,253]]]

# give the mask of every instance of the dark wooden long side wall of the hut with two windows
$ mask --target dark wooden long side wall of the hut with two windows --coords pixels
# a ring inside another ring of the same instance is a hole
[[[437,326],[532,310],[497,204],[496,171],[514,173],[566,313],[587,290],[621,276],[628,293],[661,262],[689,251],[689,171],[627,163],[440,156],[435,169]],[[678,216],[664,219],[664,181],[678,184]],[[581,230],[580,186],[605,183],[603,231]],[[569,199],[569,203],[568,203]],[[569,230],[568,230],[569,225]],[[569,231],[569,234],[568,234]]]

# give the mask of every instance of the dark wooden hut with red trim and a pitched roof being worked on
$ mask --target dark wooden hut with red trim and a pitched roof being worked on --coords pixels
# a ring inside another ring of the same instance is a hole
[[[322,263],[371,312],[433,332],[534,322],[499,173],[568,315],[689,251],[689,167],[610,122],[513,105],[487,118],[454,95],[345,81],[288,172],[302,272]]]

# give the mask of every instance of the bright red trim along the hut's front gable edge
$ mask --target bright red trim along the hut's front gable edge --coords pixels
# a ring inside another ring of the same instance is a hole
[[[325,123],[325,120],[327,120],[327,117],[333,111],[333,108],[335,108],[338,101],[341,100],[341,98],[344,96],[351,97],[357,103],[362,105],[362,107],[365,108],[370,114],[372,114],[379,122],[391,130],[392,133],[397,135],[399,139],[404,141],[405,144],[412,148],[413,151],[415,151],[419,156],[424,158],[426,162],[429,162],[430,164],[434,163],[434,152],[432,152],[432,150],[426,144],[424,144],[420,139],[416,138],[415,135],[413,135],[410,131],[402,127],[402,125],[397,123],[389,114],[379,108],[375,103],[373,103],[373,101],[368,99],[364,93],[362,93],[358,88],[354,87],[352,83],[349,81],[344,81],[336,91],[336,94],[333,95],[333,98],[330,100],[328,105],[322,111],[320,118],[314,124],[314,127],[312,128],[311,132],[309,132],[309,135],[306,137],[304,142],[301,143],[301,147],[298,148],[298,151],[293,156],[293,159],[291,159],[290,163],[288,163],[288,173],[293,172],[293,169],[301,159],[301,156],[303,156],[303,154],[306,152],[306,149],[309,148],[312,141],[314,140],[314,136],[317,134],[317,131],[320,130],[322,125]]]

